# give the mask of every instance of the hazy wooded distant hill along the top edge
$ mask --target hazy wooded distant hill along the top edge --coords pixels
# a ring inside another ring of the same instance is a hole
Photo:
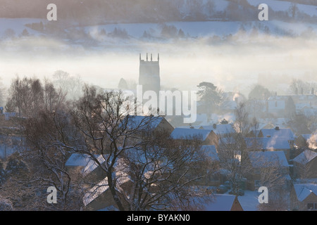
[[[256,20],[259,12],[253,0],[0,0],[1,18],[46,18],[46,6],[58,7],[58,18],[81,25],[101,23],[160,23],[167,21],[204,21],[214,19]],[[270,8],[280,2],[311,4],[316,0],[270,1]],[[275,18],[287,19],[284,13]],[[286,15],[285,15],[286,13]],[[304,11],[301,11],[304,13]],[[309,20],[310,16],[302,16]],[[316,20],[316,18],[314,18]]]

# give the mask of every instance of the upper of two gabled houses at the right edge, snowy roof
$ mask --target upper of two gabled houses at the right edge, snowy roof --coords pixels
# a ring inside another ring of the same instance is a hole
[[[293,174],[295,178],[317,178],[317,153],[312,150],[304,150],[293,160]]]

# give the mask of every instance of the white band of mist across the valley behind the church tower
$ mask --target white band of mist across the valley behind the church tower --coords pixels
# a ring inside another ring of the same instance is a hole
[[[244,39],[242,39],[242,37]],[[139,53],[160,53],[163,89],[195,90],[199,82],[213,82],[224,91],[247,94],[252,84],[287,93],[292,78],[316,81],[317,39],[240,35],[235,41],[198,39],[130,41],[126,46],[85,49],[56,39],[39,38],[1,44],[0,77],[8,86],[16,75],[51,78],[56,70],[80,75],[84,82],[117,88],[120,78],[136,82]],[[233,37],[232,37],[233,39]],[[41,48],[41,46],[43,46]]]

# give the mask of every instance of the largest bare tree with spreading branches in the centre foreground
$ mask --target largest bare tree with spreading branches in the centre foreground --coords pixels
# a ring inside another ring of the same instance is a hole
[[[136,117],[123,93],[97,94],[87,87],[74,111],[75,126],[83,136],[85,153],[106,174],[107,187],[118,210],[175,210],[199,208],[206,189],[193,188],[206,176],[199,139],[175,141],[152,131],[159,117]],[[102,156],[102,160],[96,157]],[[196,174],[194,173],[196,172]],[[123,181],[131,185],[125,187]]]

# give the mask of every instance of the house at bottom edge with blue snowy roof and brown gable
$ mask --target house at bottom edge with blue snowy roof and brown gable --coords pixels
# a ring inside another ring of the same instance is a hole
[[[211,202],[204,204],[205,211],[243,211],[236,195],[214,194]]]

